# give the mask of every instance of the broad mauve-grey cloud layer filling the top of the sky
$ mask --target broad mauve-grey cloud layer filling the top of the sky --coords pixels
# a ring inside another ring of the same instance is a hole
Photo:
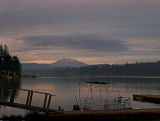
[[[96,32],[160,37],[159,0],[0,1],[1,32]]]

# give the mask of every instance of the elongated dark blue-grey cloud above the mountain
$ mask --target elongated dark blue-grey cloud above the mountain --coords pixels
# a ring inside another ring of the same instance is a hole
[[[117,52],[127,51],[127,45],[121,40],[108,39],[104,36],[96,35],[39,35],[25,36],[21,38],[31,47],[47,47],[53,46],[58,48],[66,48],[74,50],[87,50],[99,52]]]

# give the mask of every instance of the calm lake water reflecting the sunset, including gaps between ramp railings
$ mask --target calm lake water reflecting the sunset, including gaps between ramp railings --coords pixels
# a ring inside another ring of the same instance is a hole
[[[90,85],[83,82],[103,81],[106,85]],[[100,109],[99,104],[113,104],[113,99],[118,96],[130,97],[133,108],[160,108],[159,104],[143,103],[132,100],[133,94],[160,94],[160,78],[116,78],[116,77],[55,77],[55,78],[36,78],[22,79],[19,81],[1,81],[1,83],[12,86],[31,89],[36,91],[48,92],[56,97],[52,98],[51,108],[58,109],[61,106],[64,110],[72,110],[76,104],[76,98],[79,103],[94,105]],[[91,92],[92,89],[92,92]],[[92,94],[92,95],[91,95]],[[1,88],[1,99],[7,100],[10,92]],[[15,102],[25,104],[27,93],[18,91]],[[79,100],[79,97],[83,100]],[[94,98],[93,100],[90,100]],[[32,105],[43,106],[44,95],[34,94]],[[96,103],[95,103],[96,102]],[[25,110],[10,107],[0,107],[1,115],[25,114]]]

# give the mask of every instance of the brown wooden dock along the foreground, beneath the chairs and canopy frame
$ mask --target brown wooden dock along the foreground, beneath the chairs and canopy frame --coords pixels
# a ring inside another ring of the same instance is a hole
[[[50,113],[50,116],[129,116],[129,115],[156,114],[160,116],[160,108],[153,109],[121,109],[121,110],[93,110],[93,111],[64,111],[63,113]]]

